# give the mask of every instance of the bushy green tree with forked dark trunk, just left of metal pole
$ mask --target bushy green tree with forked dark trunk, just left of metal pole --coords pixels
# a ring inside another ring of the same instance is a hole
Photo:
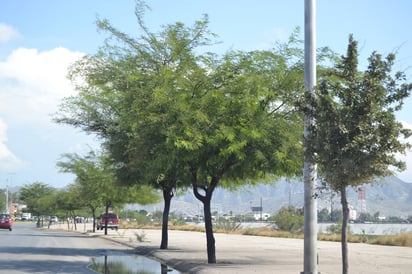
[[[208,69],[209,81],[186,96],[187,115],[179,122],[184,130],[169,134],[203,203],[209,263],[216,262],[210,211],[214,190],[301,170],[302,123],[289,101],[299,91],[294,80],[301,70],[288,67],[286,58],[273,52],[229,52]]]

